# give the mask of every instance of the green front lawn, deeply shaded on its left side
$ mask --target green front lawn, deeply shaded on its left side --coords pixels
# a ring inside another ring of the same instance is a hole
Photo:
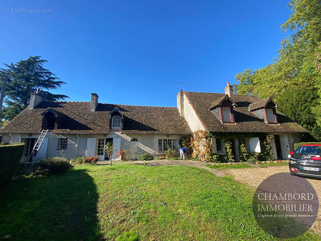
[[[256,225],[253,193],[187,166],[82,165],[50,177],[20,175],[1,191],[0,237],[275,240]],[[319,238],[307,232],[292,240]]]

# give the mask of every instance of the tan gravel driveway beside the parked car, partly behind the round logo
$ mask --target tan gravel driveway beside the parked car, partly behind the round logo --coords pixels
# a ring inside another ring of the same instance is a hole
[[[280,172],[289,172],[289,167],[286,166],[269,166],[243,169],[220,169],[227,176],[232,176],[235,180],[244,183],[256,189],[265,178]],[[306,178],[314,187],[319,198],[319,212],[317,220],[312,226],[315,233],[321,236],[321,179]]]

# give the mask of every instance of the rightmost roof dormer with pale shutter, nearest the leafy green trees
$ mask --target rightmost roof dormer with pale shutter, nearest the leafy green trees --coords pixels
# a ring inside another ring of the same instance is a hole
[[[272,100],[272,97],[251,103],[248,110],[256,114],[268,124],[278,124],[276,110],[278,105]]]

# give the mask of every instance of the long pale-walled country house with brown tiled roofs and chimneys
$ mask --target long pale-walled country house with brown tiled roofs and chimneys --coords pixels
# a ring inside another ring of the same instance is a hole
[[[103,146],[112,142],[117,151],[139,145],[142,153],[164,154],[165,143],[178,153],[179,139],[196,130],[225,133],[232,142],[235,159],[239,159],[235,133],[252,133],[245,138],[248,152],[260,152],[260,133],[272,134],[275,159],[287,158],[300,133],[299,124],[276,110],[272,98],[233,94],[228,83],[225,94],[183,92],[177,95],[177,107],[134,106],[98,102],[49,102],[32,93],[30,104],[0,129],[3,142],[26,143],[22,162],[26,162],[41,131],[48,130],[38,151],[37,160],[48,156],[99,156],[107,159]],[[225,135],[225,136],[226,136]],[[224,155],[226,138],[212,138],[213,152]],[[117,160],[117,158],[116,158]]]

